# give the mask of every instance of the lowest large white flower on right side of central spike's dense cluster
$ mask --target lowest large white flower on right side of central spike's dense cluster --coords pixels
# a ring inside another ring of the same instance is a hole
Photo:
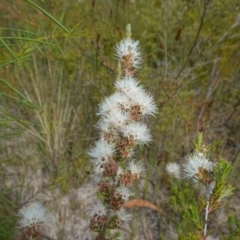
[[[122,129],[125,137],[136,141],[138,144],[148,144],[152,141],[147,125],[140,122],[129,123]]]

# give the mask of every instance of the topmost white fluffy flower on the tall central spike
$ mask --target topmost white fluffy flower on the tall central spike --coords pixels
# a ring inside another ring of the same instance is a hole
[[[142,62],[141,52],[139,50],[139,41],[134,41],[131,38],[123,39],[116,46],[116,56],[119,61],[123,59],[123,57],[131,56],[131,61],[133,63],[133,67],[139,67]]]

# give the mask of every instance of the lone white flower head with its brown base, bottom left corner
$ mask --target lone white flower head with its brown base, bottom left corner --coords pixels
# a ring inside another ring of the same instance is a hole
[[[32,202],[18,212],[18,225],[29,239],[38,239],[44,227],[53,222],[53,216],[39,202]]]

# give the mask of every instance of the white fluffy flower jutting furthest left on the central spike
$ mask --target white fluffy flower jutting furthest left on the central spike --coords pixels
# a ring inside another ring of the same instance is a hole
[[[88,151],[88,155],[93,158],[93,162],[96,166],[102,165],[108,162],[114,154],[114,146],[104,139],[100,139],[95,143],[95,146]]]

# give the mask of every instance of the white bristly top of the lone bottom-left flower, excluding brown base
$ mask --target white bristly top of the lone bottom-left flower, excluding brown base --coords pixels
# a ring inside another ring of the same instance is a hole
[[[44,227],[53,222],[53,215],[39,202],[32,202],[28,206],[21,208],[18,216],[20,217],[18,225],[21,228],[36,225]]]

